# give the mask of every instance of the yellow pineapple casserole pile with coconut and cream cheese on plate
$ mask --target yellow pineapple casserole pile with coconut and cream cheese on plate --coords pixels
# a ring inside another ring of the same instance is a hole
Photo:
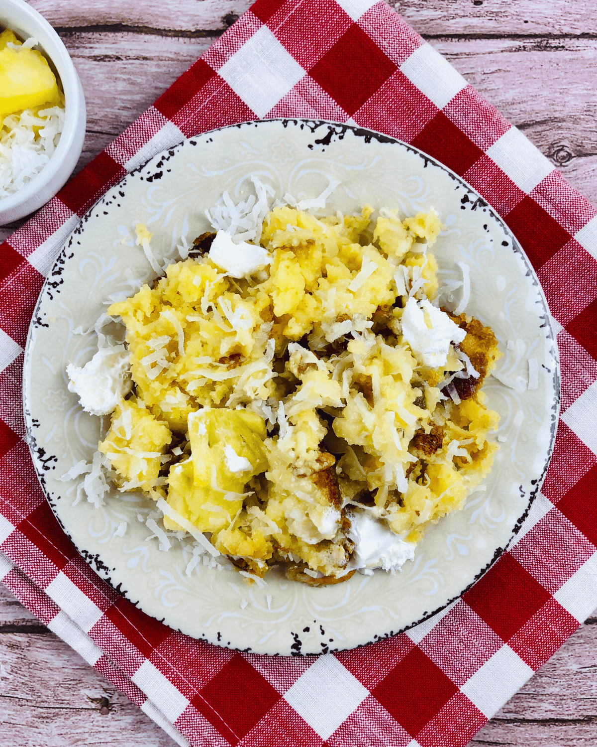
[[[492,330],[437,303],[433,210],[315,217],[271,189],[207,211],[214,231],[107,313],[69,388],[110,415],[79,498],[142,492],[245,575],[311,585],[394,570],[490,472]],[[468,268],[466,268],[468,269]],[[103,320],[101,321],[101,324]],[[107,475],[107,477],[106,477]],[[110,499],[113,500],[113,499]],[[214,549],[215,548],[215,549]]]

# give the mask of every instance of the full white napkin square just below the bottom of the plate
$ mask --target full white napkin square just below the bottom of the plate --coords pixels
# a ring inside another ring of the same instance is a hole
[[[287,690],[284,699],[327,740],[369,695],[332,654],[319,657]]]

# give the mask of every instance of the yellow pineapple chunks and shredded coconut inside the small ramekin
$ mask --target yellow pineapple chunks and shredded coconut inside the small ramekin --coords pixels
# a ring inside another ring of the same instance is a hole
[[[0,199],[40,173],[64,125],[64,95],[36,44],[0,34]]]

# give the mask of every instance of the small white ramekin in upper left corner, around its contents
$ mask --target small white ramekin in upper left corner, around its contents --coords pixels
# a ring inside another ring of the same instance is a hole
[[[87,113],[75,66],[49,22],[25,0],[1,0],[0,26],[11,28],[24,40],[37,39],[34,49],[39,49],[57,72],[65,99],[64,128],[49,163],[18,192],[0,198],[0,226],[4,226],[45,205],[69,179],[83,149]]]

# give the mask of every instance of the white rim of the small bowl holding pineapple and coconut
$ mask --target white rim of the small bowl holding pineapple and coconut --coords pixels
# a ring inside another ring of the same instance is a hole
[[[76,139],[78,112],[82,104],[82,91],[80,90],[77,71],[66,46],[64,46],[63,41],[57,32],[54,31],[51,24],[46,21],[41,13],[38,13],[37,10],[25,2],[25,0],[2,0],[0,25],[4,25],[4,17],[11,10],[15,14],[22,13],[24,26],[31,25],[32,28],[37,26],[47,34],[48,38],[44,40],[44,43],[38,39],[39,43],[35,46],[35,49],[41,48],[40,51],[43,51],[43,54],[49,58],[56,67],[58,75],[60,75],[60,82],[62,83],[64,92],[65,111],[64,126],[62,134],[60,134],[60,141],[56,150],[52,153],[49,163],[22,189],[19,189],[18,192],[0,198],[0,214],[7,213],[14,208],[18,208],[19,205],[28,202],[28,200],[40,192],[40,190],[43,190],[54,179]],[[31,31],[31,36],[35,36],[34,31]],[[50,49],[47,49],[48,47]]]

